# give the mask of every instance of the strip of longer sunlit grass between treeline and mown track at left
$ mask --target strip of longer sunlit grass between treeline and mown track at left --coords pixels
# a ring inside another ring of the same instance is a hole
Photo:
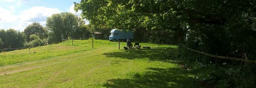
[[[92,49],[90,42],[78,44],[79,42],[72,46],[72,41],[66,41],[66,44],[59,43],[31,49],[2,52],[0,53],[0,66],[36,61]]]

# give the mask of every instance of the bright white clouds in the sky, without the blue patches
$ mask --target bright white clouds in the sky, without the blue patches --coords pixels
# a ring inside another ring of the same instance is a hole
[[[21,2],[28,0],[0,0],[0,2]],[[74,5],[72,5],[68,12],[71,12],[78,17],[81,17],[82,11],[76,12],[74,10]],[[47,7],[32,7],[23,11],[16,12],[15,7],[9,7],[4,9],[0,6],[0,29],[3,27],[10,27],[15,30],[23,31],[26,26],[32,22],[39,22],[41,25],[45,26],[47,17],[55,13],[60,13],[61,11],[57,8],[47,8]],[[89,24],[88,20],[84,20],[86,24]],[[4,28],[7,29],[7,28]]]

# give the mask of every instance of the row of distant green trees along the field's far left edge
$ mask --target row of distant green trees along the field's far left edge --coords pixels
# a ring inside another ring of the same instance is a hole
[[[82,18],[72,13],[57,13],[47,18],[46,27],[33,22],[23,32],[1,29],[0,49],[43,46],[68,38],[89,38],[91,31],[88,27]]]

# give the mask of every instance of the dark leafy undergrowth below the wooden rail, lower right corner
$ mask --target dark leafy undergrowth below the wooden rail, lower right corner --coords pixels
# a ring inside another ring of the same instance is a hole
[[[189,64],[189,63],[186,63]],[[215,88],[252,88],[255,85],[255,65],[232,65],[227,63],[203,64],[196,62],[190,66],[189,71],[197,81]]]

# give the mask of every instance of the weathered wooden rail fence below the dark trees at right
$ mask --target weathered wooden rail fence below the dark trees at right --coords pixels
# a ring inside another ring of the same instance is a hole
[[[185,46],[183,46],[183,47],[188,49],[188,50],[190,50],[190,51],[198,52],[198,53],[204,54],[206,56],[214,57],[214,58],[221,58],[221,59],[235,60],[235,61],[243,61],[243,62],[247,62],[247,63],[254,63],[254,64],[256,64],[256,61],[254,61],[254,60],[247,60],[247,59],[235,58],[235,57],[218,56],[218,55],[213,55],[213,54],[205,53],[205,52],[202,52],[202,51],[193,50],[193,49],[187,48]]]

